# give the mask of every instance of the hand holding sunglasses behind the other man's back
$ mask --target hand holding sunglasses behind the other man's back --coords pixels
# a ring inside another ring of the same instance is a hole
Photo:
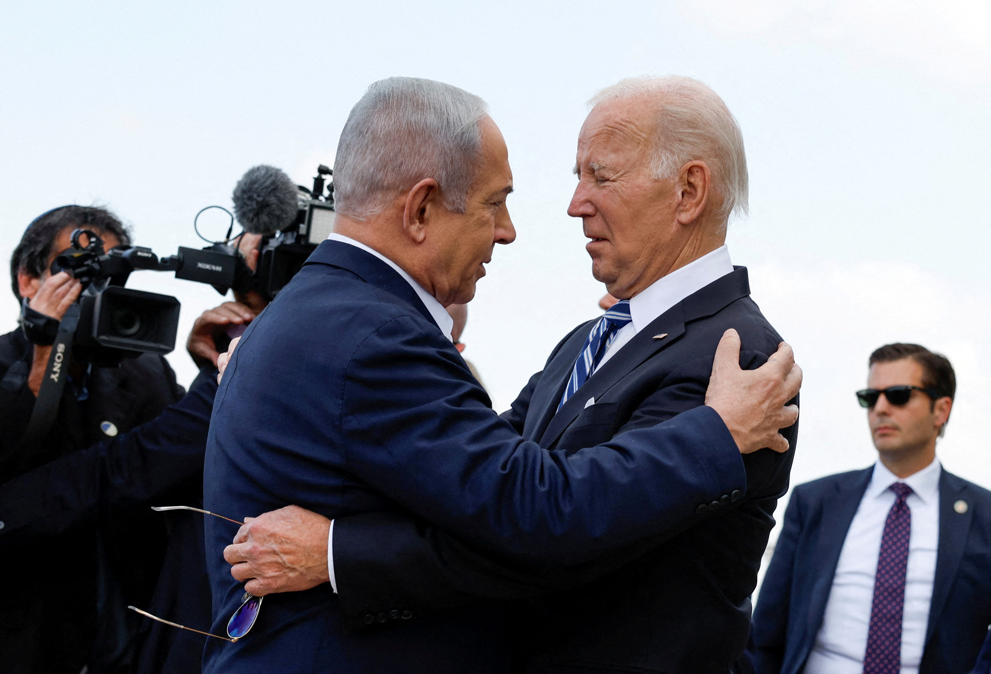
[[[330,580],[327,537],[330,520],[299,506],[285,506],[245,524],[224,548],[231,575],[248,581],[245,592],[264,597],[309,590]]]

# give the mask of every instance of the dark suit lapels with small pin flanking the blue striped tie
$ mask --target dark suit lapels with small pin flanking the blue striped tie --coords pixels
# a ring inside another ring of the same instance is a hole
[[[732,273],[692,293],[655,318],[645,328],[637,332],[633,339],[619,349],[614,356],[606,361],[604,366],[596,370],[574,395],[568,398],[568,401],[547,424],[547,430],[540,438],[540,446],[550,447],[554,444],[571,422],[582,413],[590,397],[600,397],[648,358],[678,341],[678,338],[685,333],[686,323],[711,316],[727,304],[748,294],[750,294],[750,285],[747,281],[746,268],[737,267]],[[574,353],[570,353],[571,360],[564,368],[566,372],[564,380],[556,382],[559,389],[557,398],[554,400],[555,407],[557,401],[561,399],[565,381],[570,376],[585,339],[592,329],[591,325],[589,330],[579,331],[583,333],[582,344],[575,349]],[[665,336],[654,339],[656,335]],[[561,351],[564,352],[564,349]]]

